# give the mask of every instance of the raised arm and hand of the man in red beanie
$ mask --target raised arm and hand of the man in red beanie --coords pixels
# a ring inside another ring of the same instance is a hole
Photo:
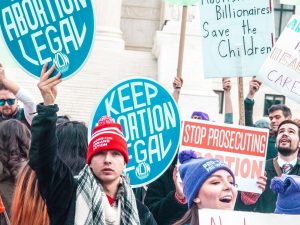
[[[55,67],[48,71],[47,64],[42,69],[38,87],[41,91],[44,103],[37,106],[38,115],[32,122],[32,141],[29,154],[29,164],[36,171],[40,183],[50,185],[53,175],[53,165],[57,158],[56,138],[56,112],[58,106],[54,105],[56,97],[56,85],[60,83],[59,76],[48,79]],[[50,178],[50,179],[49,179]]]

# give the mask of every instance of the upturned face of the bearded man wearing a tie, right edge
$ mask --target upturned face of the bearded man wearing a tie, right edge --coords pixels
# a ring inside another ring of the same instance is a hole
[[[299,128],[292,123],[283,124],[278,129],[276,147],[283,156],[289,156],[297,152],[300,147]]]

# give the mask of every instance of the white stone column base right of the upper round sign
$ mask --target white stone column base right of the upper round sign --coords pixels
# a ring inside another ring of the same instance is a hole
[[[120,29],[122,0],[95,0],[93,4],[97,44],[123,50],[125,43]]]

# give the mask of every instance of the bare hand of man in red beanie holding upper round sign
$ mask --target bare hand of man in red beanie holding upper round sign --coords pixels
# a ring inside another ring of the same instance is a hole
[[[44,99],[44,105],[53,105],[57,95],[56,86],[61,82],[61,73],[58,73],[56,76],[49,78],[49,76],[55,70],[55,66],[52,65],[49,70],[47,70],[47,67],[48,63],[43,66],[38,87]]]

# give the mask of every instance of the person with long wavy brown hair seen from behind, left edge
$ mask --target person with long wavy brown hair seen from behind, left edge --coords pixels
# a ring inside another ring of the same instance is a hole
[[[0,123],[0,195],[10,215],[15,179],[28,159],[31,134],[20,121],[11,119]]]

